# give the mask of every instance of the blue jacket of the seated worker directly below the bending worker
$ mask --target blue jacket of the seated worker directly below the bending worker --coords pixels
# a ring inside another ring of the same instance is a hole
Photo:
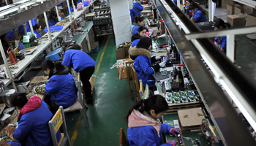
[[[63,107],[70,107],[75,103],[78,92],[75,87],[73,76],[69,74],[69,69],[65,67],[62,73],[50,77],[46,83],[46,93],[51,95],[50,100]]]

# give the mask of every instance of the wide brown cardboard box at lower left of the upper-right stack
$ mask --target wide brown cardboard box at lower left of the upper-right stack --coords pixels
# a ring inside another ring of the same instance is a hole
[[[230,23],[231,26],[245,26],[245,15],[227,15],[227,23]]]

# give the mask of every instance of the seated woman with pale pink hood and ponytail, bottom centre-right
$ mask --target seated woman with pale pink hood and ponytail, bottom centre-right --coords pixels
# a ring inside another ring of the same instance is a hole
[[[142,99],[132,106],[126,116],[129,145],[175,146],[175,140],[161,144],[162,134],[176,136],[179,133],[179,129],[162,124],[159,120],[168,109],[167,101],[160,95]]]

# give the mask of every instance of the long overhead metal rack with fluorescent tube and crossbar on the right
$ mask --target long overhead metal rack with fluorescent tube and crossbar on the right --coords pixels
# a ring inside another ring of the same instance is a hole
[[[236,103],[246,120],[256,130],[256,102],[254,98],[256,86],[232,63],[234,35],[249,33],[249,30],[256,27],[202,32],[178,9],[173,1],[154,0],[154,4],[156,4],[159,15],[165,22],[165,32],[170,34],[178,48],[181,59],[187,66],[196,88],[199,89],[203,104],[217,127],[224,145],[255,145],[255,140],[252,139],[249,130],[238,117],[228,98]],[[168,11],[171,12],[176,21],[171,18]],[[227,56],[217,50],[210,39],[207,39],[222,35],[227,35],[227,50],[231,52],[227,52]],[[206,61],[215,77],[212,77],[208,72],[201,58]],[[228,97],[219,88],[216,81],[225,88]],[[233,137],[239,137],[239,139]]]

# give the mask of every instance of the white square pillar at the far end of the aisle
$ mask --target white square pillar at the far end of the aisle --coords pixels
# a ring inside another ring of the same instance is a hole
[[[110,0],[113,27],[116,36],[116,46],[130,42],[132,21],[129,15],[129,0]]]

